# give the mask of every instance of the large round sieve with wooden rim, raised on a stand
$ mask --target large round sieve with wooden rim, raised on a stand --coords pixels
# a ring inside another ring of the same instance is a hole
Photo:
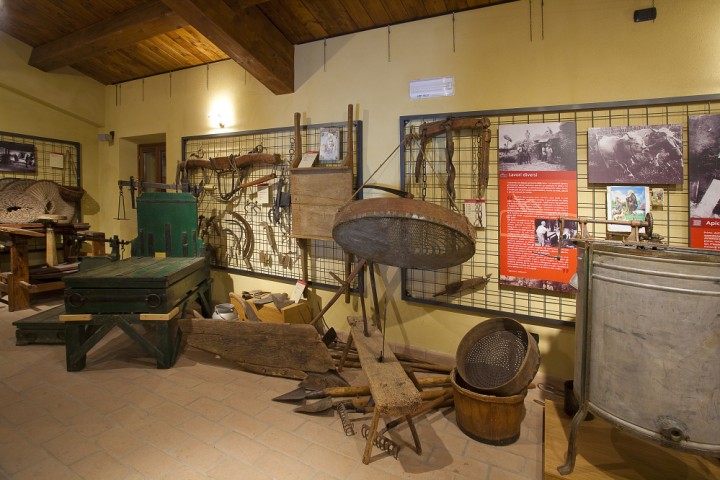
[[[475,254],[475,230],[459,213],[408,198],[350,202],[335,215],[333,239],[371,262],[435,270]]]

